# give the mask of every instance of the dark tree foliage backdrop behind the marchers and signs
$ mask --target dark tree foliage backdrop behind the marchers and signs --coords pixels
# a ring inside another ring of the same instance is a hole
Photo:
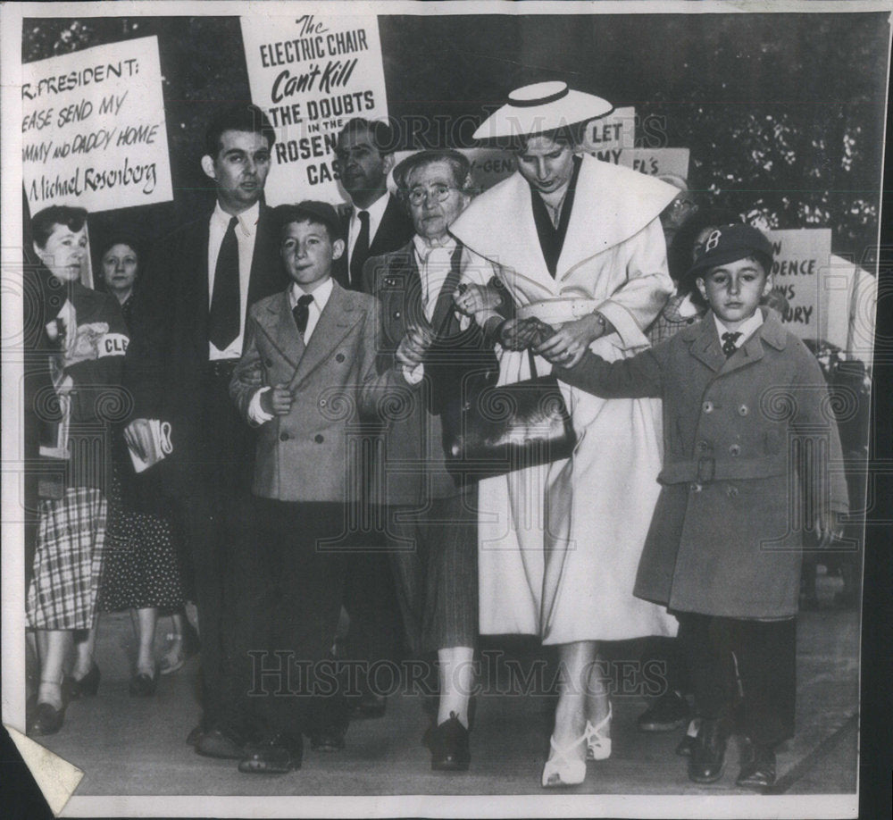
[[[652,124],[638,130],[643,146],[689,147],[706,205],[766,227],[830,228],[834,252],[856,261],[877,241],[885,14],[381,16],[379,26],[402,147],[472,145],[508,90],[564,79],[634,105]],[[175,202],[95,214],[94,236],[115,222],[159,238],[210,207],[204,125],[222,102],[250,98],[238,18],[24,21],[25,62],[152,34]]]

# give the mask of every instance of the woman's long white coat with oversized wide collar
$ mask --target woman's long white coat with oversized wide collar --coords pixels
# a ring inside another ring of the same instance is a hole
[[[616,332],[592,349],[613,360],[647,347],[643,331],[672,292],[657,216],[674,194],[660,180],[583,156],[554,277],[538,241],[537,195],[517,172],[472,201],[450,230],[497,266],[519,314],[536,314],[545,300],[597,307]],[[542,359],[537,367],[549,371]],[[529,374],[526,353],[503,352],[501,383]],[[480,482],[481,632],[559,644],[674,633],[663,607],[632,595],[659,492],[659,404],[564,392],[579,439],[572,459]]]

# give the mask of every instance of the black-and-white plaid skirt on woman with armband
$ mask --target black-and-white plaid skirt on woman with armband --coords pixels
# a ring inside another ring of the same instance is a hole
[[[31,629],[89,629],[103,569],[105,498],[98,489],[66,489],[40,503],[34,576],[26,599]]]

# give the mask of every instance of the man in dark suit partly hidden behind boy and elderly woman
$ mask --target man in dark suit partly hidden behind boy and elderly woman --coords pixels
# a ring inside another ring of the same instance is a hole
[[[333,276],[346,289],[363,290],[366,260],[403,247],[413,236],[405,207],[388,194],[393,149],[394,134],[387,122],[355,118],[338,134],[338,171],[351,204],[340,210],[346,250],[336,261]],[[368,663],[394,654],[398,629],[394,584],[383,548],[380,535],[370,532],[367,551],[355,556],[345,584],[350,620],[346,652]],[[384,698],[372,693],[363,680],[359,685],[362,697],[355,700],[354,717],[383,715]]]

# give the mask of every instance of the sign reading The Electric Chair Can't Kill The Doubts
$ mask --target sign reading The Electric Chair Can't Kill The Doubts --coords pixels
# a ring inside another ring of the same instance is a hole
[[[251,98],[276,130],[266,198],[340,202],[338,131],[388,116],[378,19],[304,14],[243,17]]]

